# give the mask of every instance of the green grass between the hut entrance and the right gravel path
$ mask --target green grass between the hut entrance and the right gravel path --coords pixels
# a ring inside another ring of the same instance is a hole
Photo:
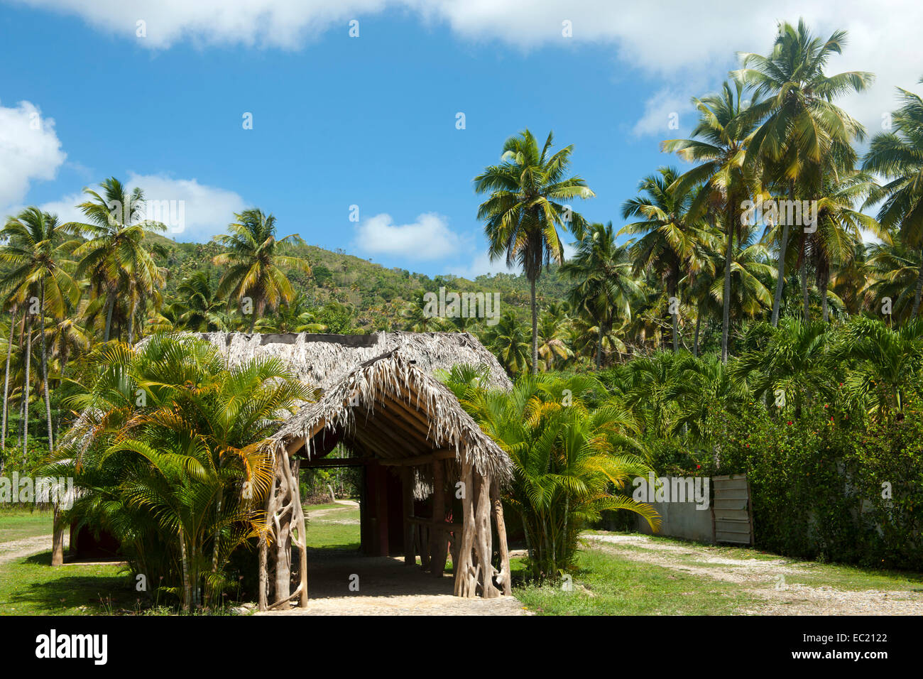
[[[736,585],[608,552],[581,550],[577,566],[572,591],[560,584],[520,585],[513,594],[530,611],[544,615],[726,615],[761,603]],[[514,582],[521,581],[521,560],[513,560],[511,568]]]

